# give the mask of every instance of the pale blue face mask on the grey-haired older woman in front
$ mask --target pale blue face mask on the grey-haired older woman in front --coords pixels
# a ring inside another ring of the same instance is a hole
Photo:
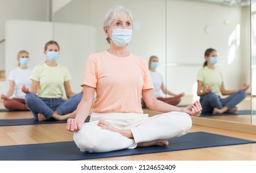
[[[111,30],[109,28],[109,30]],[[119,47],[126,46],[132,40],[132,30],[127,29],[113,29],[112,37],[109,36],[111,40],[114,41],[114,44]]]

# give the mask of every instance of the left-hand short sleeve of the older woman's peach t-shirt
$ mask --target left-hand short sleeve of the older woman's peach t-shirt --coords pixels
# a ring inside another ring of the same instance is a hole
[[[82,85],[92,86],[96,88],[97,83],[97,65],[96,58],[93,55],[90,55],[85,63],[83,69]]]

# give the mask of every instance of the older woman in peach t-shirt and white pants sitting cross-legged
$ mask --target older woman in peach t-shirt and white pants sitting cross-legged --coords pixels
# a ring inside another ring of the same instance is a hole
[[[67,120],[66,129],[75,132],[76,145],[81,151],[106,152],[166,146],[166,139],[186,134],[192,125],[189,115],[202,110],[200,103],[177,108],[156,99],[145,60],[127,50],[132,38],[130,11],[113,7],[106,14],[103,29],[110,47],[88,57],[83,97],[75,119]],[[154,117],[143,114],[142,96],[148,108],[167,113]],[[83,124],[91,108],[90,122]]]

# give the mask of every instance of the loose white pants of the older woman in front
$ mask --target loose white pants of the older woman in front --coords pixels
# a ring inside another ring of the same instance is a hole
[[[130,129],[134,138],[101,129],[97,125],[99,119],[108,121],[117,129]],[[184,112],[168,112],[153,117],[148,117],[148,114],[93,112],[90,122],[74,133],[74,141],[81,151],[100,153],[135,148],[137,143],[145,141],[180,137],[191,127],[191,117]]]

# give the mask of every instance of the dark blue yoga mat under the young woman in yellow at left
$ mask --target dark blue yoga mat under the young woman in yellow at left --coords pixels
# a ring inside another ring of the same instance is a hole
[[[89,122],[90,116],[87,117],[85,122]],[[0,126],[9,126],[9,125],[36,125],[36,124],[58,124],[58,123],[66,123],[67,120],[45,120],[38,121],[36,119],[0,119]]]

